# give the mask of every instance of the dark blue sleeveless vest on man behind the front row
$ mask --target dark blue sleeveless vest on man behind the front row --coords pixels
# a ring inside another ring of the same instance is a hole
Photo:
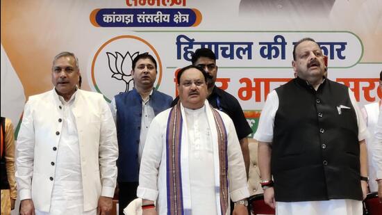
[[[149,104],[155,115],[168,109],[172,97],[153,90]],[[119,157],[117,160],[118,182],[138,182],[139,162],[138,146],[140,143],[140,125],[142,121],[142,97],[135,90],[115,96],[117,106],[117,137]]]

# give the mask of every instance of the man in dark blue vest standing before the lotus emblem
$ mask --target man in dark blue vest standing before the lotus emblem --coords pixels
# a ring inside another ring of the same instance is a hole
[[[132,64],[133,90],[115,95],[111,102],[119,145],[119,214],[137,198],[140,159],[151,120],[172,102],[172,97],[154,88],[157,74],[153,56],[139,54]]]

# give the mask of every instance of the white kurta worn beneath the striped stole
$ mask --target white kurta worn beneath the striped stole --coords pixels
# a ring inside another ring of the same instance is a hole
[[[190,209],[190,214],[213,215],[220,211],[215,206],[219,202],[219,179],[215,176],[218,166],[214,158],[217,141],[213,135],[215,122],[212,113],[206,111],[206,106],[209,109],[207,101],[203,108],[195,111],[181,106],[185,122],[182,129],[181,176],[185,209]],[[166,128],[169,111],[167,109],[159,113],[151,122],[143,150],[137,191],[139,198],[157,200],[159,214],[167,214]],[[225,113],[219,113],[227,132],[230,197],[238,201],[249,196],[244,159],[231,118]]]

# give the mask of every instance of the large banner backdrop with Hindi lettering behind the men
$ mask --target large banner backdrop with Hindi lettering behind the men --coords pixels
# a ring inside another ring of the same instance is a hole
[[[30,95],[50,90],[60,51],[79,58],[83,89],[114,95],[133,88],[131,61],[149,52],[158,90],[175,97],[176,70],[212,49],[217,86],[234,95],[256,131],[267,94],[294,77],[292,49],[314,38],[329,79],[362,106],[379,101],[380,0],[1,0],[1,116],[15,125]]]

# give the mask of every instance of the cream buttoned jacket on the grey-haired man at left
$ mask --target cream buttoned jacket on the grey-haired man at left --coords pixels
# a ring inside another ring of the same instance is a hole
[[[76,160],[81,166],[83,210],[97,208],[99,196],[114,194],[118,146],[108,104],[99,93],[77,90],[72,105],[75,123],[66,131],[65,111],[54,89],[30,97],[24,109],[16,145],[16,180],[20,200],[32,199],[35,209],[41,212],[49,212],[55,203],[53,186],[63,179],[58,164],[63,157],[58,152],[60,144],[69,139],[78,139]],[[76,129],[76,134],[72,129]]]

